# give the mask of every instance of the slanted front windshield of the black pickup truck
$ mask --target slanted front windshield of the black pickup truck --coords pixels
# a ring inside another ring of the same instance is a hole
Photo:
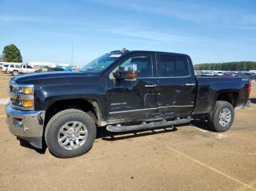
[[[92,73],[99,73],[110,66],[111,63],[116,61],[121,54],[105,54],[96,58],[94,61],[87,63],[86,66],[80,69],[80,71],[92,72]]]

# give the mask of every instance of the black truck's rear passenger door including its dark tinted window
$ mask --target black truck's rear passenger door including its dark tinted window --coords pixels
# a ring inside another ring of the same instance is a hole
[[[187,55],[157,53],[157,106],[159,115],[176,117],[192,113],[196,79]]]

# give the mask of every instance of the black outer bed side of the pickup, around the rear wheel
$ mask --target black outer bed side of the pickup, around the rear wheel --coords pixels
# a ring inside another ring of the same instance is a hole
[[[196,77],[197,96],[193,114],[210,113],[218,98],[233,99],[235,108],[241,108],[249,98],[248,77]]]

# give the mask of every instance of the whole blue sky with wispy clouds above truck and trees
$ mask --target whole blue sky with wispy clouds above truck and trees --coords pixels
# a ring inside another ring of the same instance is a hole
[[[83,66],[111,50],[190,55],[194,64],[256,61],[255,0],[0,0],[0,51]]]

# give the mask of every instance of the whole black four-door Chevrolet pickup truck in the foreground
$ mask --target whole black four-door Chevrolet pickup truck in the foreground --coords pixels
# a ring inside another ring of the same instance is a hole
[[[18,139],[75,157],[89,151],[100,126],[121,132],[203,118],[223,132],[249,93],[247,77],[195,77],[188,55],[121,50],[80,71],[12,78],[7,123]]]

